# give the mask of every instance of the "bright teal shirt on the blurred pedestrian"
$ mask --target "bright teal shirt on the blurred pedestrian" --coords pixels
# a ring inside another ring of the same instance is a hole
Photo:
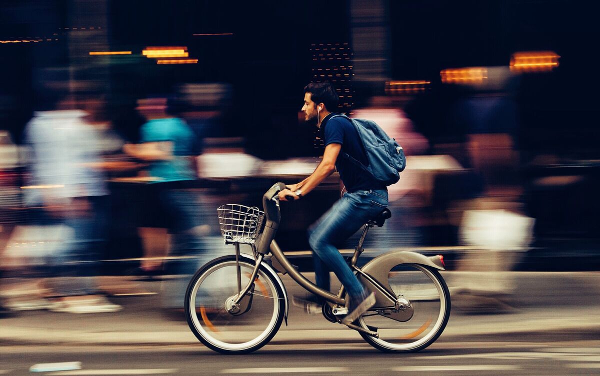
[[[156,160],[149,166],[149,174],[158,181],[193,180],[196,170],[192,163],[194,133],[181,119],[168,117],[146,122],[140,131],[142,142],[171,142],[173,159]]]

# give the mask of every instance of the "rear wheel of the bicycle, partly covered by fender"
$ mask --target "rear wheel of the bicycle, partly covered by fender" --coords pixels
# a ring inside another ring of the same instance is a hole
[[[400,322],[384,316],[385,312],[368,311],[358,323],[365,329],[376,330],[379,338],[361,333],[362,338],[388,353],[413,353],[431,345],[450,317],[450,292],[442,276],[428,266],[406,263],[392,268],[388,281],[396,296],[410,301],[412,317]]]

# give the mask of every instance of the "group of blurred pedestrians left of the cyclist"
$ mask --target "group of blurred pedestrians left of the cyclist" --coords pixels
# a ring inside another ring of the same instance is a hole
[[[101,96],[52,90],[44,98],[22,144],[2,132],[2,310],[119,311],[106,295],[127,286],[102,286],[98,276],[107,259],[134,256],[121,272],[169,275],[163,308],[182,311],[188,278],[216,254],[194,183],[202,129],[218,112],[196,106],[184,120],[173,98],[140,98],[134,109],[143,125],[137,142],[127,142]]]

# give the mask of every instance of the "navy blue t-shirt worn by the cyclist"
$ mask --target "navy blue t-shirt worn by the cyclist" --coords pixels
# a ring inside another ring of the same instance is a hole
[[[354,125],[342,116],[331,119],[334,115],[337,114],[329,114],[321,122],[321,136],[325,140],[325,146],[341,144],[340,155],[335,161],[335,168],[340,173],[341,181],[346,186],[346,190],[355,192],[357,190],[385,188],[385,186],[377,183],[364,169],[342,155],[342,153],[347,153],[363,165],[368,165],[367,155]]]

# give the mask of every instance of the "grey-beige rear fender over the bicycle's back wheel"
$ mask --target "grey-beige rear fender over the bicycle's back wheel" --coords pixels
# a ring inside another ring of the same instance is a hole
[[[388,253],[381,254],[375,257],[373,260],[367,262],[365,266],[361,268],[363,272],[373,277],[377,282],[382,284],[389,293],[392,293],[392,288],[389,286],[388,274],[392,268],[396,265],[403,263],[418,263],[431,268],[445,270],[439,256],[424,256],[421,253],[411,251],[391,251]],[[368,290],[375,293],[376,303],[374,307],[389,307],[394,305],[395,302],[391,302],[386,296],[377,290],[376,287],[371,284],[367,278],[358,274],[358,280],[367,287]]]

